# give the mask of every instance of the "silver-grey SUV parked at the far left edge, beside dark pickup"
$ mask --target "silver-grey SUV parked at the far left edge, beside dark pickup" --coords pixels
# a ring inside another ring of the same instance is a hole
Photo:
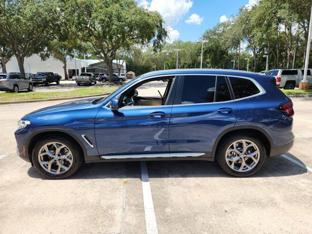
[[[0,74],[0,91],[18,93],[21,89],[33,91],[33,82],[19,74]]]

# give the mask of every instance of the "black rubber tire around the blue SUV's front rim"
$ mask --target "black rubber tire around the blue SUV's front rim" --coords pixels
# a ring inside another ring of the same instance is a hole
[[[59,142],[62,143],[64,145],[66,145],[66,147],[68,147],[68,149],[72,152],[73,155],[73,162],[71,167],[69,168],[68,171],[56,175],[56,174],[52,174],[47,172],[46,170],[44,170],[40,163],[39,163],[39,150],[42,146],[44,146],[45,144],[49,143],[49,142]],[[35,168],[37,169],[37,171],[45,177],[51,178],[51,179],[63,179],[63,178],[67,178],[69,176],[72,176],[74,173],[76,173],[78,171],[78,169],[80,168],[81,164],[83,163],[83,156],[82,153],[80,151],[78,151],[77,149],[79,149],[79,146],[76,142],[73,142],[71,140],[68,140],[66,138],[63,137],[47,137],[46,139],[42,139],[40,140],[34,147],[33,149],[33,153],[32,153],[32,161],[34,163]]]

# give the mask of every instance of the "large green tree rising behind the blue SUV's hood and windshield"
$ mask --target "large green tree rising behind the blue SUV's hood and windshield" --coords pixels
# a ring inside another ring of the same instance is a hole
[[[90,42],[95,56],[108,66],[109,81],[120,48],[152,41],[158,49],[167,36],[159,13],[139,7],[135,0],[68,0],[68,5],[79,38]]]

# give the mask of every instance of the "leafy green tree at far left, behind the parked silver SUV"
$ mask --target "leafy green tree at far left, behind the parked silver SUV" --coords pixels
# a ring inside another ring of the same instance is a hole
[[[0,4],[0,37],[18,60],[24,76],[24,59],[38,54],[56,35],[58,0],[13,0]]]

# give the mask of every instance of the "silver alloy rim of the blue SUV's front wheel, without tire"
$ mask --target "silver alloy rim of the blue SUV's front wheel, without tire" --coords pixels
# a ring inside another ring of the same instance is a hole
[[[67,172],[73,165],[73,154],[60,142],[49,142],[39,150],[40,166],[48,173],[59,175]]]

